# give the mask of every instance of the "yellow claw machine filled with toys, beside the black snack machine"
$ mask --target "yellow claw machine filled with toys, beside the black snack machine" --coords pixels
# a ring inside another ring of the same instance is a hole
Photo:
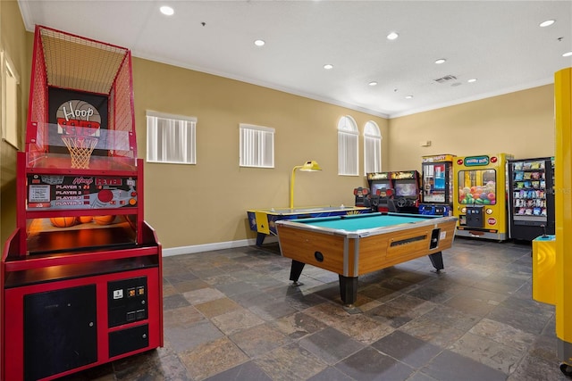
[[[509,239],[506,199],[508,153],[453,158],[453,216],[457,236]]]

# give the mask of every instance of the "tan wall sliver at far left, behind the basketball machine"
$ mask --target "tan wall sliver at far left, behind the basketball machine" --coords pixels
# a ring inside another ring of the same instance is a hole
[[[23,126],[29,93],[29,66],[27,57],[26,30],[21,20],[18,3],[13,0],[0,1],[0,50],[4,50],[13,62],[20,76],[19,118]],[[1,111],[0,111],[1,114]],[[0,120],[2,120],[0,118]],[[20,140],[23,127],[21,128]],[[22,145],[20,143],[20,148]],[[5,240],[16,226],[16,148],[2,139],[0,141],[0,243]]]

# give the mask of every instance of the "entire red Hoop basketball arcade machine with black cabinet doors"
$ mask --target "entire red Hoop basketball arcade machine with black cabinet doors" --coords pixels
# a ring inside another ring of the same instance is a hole
[[[17,227],[1,263],[3,380],[55,379],[163,346],[162,248],[143,218],[130,51],[38,26],[30,82]]]

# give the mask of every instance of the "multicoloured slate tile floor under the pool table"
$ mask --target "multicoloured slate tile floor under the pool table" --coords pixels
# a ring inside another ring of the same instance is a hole
[[[534,302],[531,245],[456,238],[359,278],[306,266],[290,286],[277,244],[164,258],[164,347],[79,380],[565,380],[554,307]]]

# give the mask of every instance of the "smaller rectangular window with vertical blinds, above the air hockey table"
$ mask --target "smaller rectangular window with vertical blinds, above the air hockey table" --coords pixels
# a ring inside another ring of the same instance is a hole
[[[240,123],[240,167],[274,168],[274,128]]]

